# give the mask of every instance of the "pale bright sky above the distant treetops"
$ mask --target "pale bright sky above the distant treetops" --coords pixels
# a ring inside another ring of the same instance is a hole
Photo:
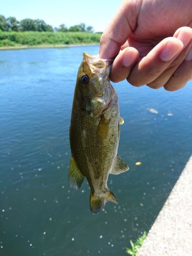
[[[67,27],[85,23],[95,32],[103,31],[114,16],[122,0],[6,0],[1,1],[0,14],[16,17],[43,19],[53,27]]]

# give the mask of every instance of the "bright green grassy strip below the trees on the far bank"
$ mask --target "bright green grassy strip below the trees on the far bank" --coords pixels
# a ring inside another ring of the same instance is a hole
[[[1,32],[0,47],[99,44],[100,33],[89,32]]]

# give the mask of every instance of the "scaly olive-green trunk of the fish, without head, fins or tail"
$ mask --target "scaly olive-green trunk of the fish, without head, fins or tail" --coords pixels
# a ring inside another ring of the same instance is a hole
[[[75,104],[70,127],[72,155],[81,173],[87,177],[92,193],[106,190],[106,182],[113,167],[118,147],[119,116],[117,96],[114,104],[102,117],[91,117]],[[113,115],[113,116],[112,116]],[[111,119],[107,119],[111,116]]]

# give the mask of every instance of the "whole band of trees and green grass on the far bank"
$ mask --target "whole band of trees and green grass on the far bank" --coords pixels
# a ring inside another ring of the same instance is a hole
[[[98,44],[100,36],[84,23],[69,28],[61,24],[53,29],[42,19],[19,22],[15,17],[0,15],[0,47]]]

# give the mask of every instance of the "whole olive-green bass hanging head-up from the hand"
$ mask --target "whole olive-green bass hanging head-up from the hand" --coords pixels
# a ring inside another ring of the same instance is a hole
[[[70,146],[69,182],[78,189],[84,178],[90,185],[90,209],[98,214],[106,202],[117,199],[108,188],[110,174],[129,169],[117,156],[120,136],[118,96],[110,83],[112,59],[83,53],[74,91]]]

